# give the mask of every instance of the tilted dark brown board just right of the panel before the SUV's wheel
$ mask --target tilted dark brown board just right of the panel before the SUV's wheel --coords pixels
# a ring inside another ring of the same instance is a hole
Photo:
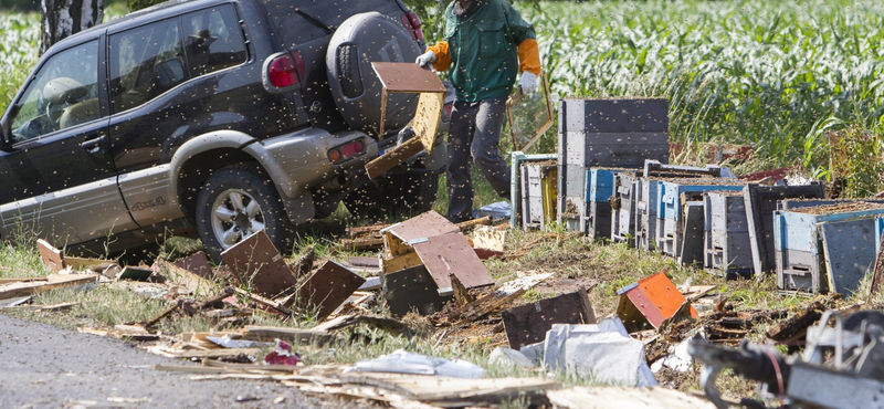
[[[365,282],[361,275],[329,260],[311,274],[284,305],[308,308],[322,321]]]

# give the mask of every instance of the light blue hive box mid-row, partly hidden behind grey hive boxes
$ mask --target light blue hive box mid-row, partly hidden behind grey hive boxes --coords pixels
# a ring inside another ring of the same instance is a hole
[[[662,179],[656,190],[655,242],[663,254],[678,256],[684,232],[682,204],[703,198],[712,190],[743,190],[745,183],[736,179],[680,178]]]

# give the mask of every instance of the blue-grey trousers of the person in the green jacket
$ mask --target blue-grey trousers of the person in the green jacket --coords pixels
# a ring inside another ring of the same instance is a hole
[[[454,102],[449,128],[449,213],[452,221],[473,218],[473,180],[470,165],[475,160],[497,195],[509,199],[509,166],[497,151],[506,115],[506,97],[475,103]]]

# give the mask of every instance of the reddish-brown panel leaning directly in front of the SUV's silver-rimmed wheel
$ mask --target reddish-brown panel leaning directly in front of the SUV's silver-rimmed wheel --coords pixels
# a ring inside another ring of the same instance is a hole
[[[263,230],[224,250],[221,258],[240,283],[267,298],[274,298],[297,284],[292,270]]]

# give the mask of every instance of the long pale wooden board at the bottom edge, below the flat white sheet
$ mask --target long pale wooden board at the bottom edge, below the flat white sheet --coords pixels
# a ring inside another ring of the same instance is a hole
[[[445,402],[496,403],[518,397],[524,397],[538,405],[546,401],[543,398],[546,391],[561,387],[558,380],[545,378],[464,379],[410,374],[345,373],[339,376],[339,379],[344,384],[383,388],[408,399],[430,405],[444,405]]]

